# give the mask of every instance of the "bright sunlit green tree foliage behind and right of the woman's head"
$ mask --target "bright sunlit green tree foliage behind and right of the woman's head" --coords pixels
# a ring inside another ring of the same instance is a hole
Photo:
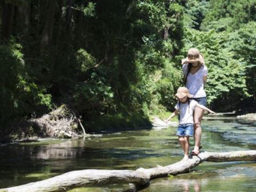
[[[182,52],[185,55],[187,49],[197,47],[205,56],[209,69],[208,101],[222,109],[234,110],[246,103],[252,107],[256,1],[191,0],[187,5],[190,5],[186,6],[185,14],[187,40]]]

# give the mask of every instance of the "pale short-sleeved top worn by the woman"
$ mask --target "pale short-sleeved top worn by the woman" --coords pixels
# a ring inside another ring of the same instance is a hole
[[[188,64],[182,66],[183,74],[185,76],[187,75],[187,66]],[[194,98],[206,97],[205,90],[203,89],[203,76],[207,76],[207,74],[207,67],[202,65],[197,73],[189,73],[189,75],[187,75],[186,87],[189,89],[189,93],[194,95]]]

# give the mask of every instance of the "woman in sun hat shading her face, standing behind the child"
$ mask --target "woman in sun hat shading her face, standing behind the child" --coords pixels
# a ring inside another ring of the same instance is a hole
[[[189,93],[194,95],[191,99],[194,99],[199,104],[206,106],[207,101],[204,87],[208,72],[202,54],[195,48],[190,49],[187,53],[187,57],[182,59],[182,65],[185,86],[189,89]],[[192,155],[199,154],[203,112],[204,110],[198,107],[194,110],[195,146],[192,151]]]

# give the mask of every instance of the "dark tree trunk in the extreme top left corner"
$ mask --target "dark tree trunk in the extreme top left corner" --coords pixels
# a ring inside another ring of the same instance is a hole
[[[8,42],[11,35],[11,28],[13,26],[15,5],[2,1],[1,6],[2,6],[1,40]]]

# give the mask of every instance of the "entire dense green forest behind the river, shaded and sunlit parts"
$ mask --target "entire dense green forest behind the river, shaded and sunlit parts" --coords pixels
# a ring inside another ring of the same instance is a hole
[[[1,0],[0,10],[3,135],[62,103],[89,131],[145,125],[173,109],[190,47],[209,68],[211,107],[255,107],[256,0]]]

